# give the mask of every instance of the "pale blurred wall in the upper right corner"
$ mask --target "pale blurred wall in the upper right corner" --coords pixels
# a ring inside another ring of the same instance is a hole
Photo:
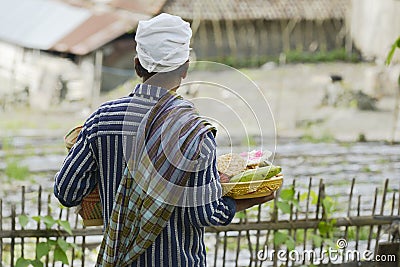
[[[399,0],[352,0],[351,35],[366,59],[383,61],[400,36]],[[400,62],[400,52],[394,59]]]

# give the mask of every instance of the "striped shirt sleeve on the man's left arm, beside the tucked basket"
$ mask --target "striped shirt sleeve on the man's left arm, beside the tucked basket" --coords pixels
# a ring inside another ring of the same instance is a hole
[[[66,207],[79,205],[97,184],[97,163],[88,140],[88,128],[86,123],[55,175],[54,195]]]

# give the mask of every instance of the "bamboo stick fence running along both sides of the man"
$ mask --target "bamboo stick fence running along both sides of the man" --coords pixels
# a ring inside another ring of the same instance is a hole
[[[272,203],[241,213],[227,226],[206,228],[209,266],[308,266],[326,263],[321,261],[326,244],[318,244],[315,240],[315,236],[328,240],[318,230],[321,222],[335,222],[332,224],[334,229],[330,238],[348,241],[344,251],[364,249],[376,254],[381,242],[394,242],[388,231],[393,221],[400,220],[400,193],[398,189],[390,190],[389,179],[385,180],[383,188],[377,187],[372,189],[370,194],[364,192],[358,195],[355,190],[356,180],[353,179],[349,192],[345,193],[347,203],[338,203],[334,212],[330,214],[323,205],[325,197],[329,195],[323,180],[315,183],[310,178],[308,186],[303,187],[303,192],[297,190],[299,186],[296,185],[296,180],[293,180],[291,185],[285,185],[290,186],[295,189],[295,195],[293,201],[288,202],[289,213],[283,213],[278,208],[280,198],[277,197]],[[69,266],[94,264],[102,229],[85,228],[78,215],[71,209],[59,208],[52,195],[45,194],[41,187],[34,194],[27,194],[22,187],[19,203],[11,204],[10,207],[5,207],[3,203],[4,200],[0,199],[0,266],[14,267],[20,257],[34,258],[35,246],[49,239],[64,239],[77,245],[77,249],[73,248],[67,253]],[[69,221],[72,234],[57,225],[46,229],[43,223],[35,221],[30,221],[22,227],[18,221],[21,214],[29,217],[50,215],[55,220]],[[285,261],[279,259],[277,254],[273,254],[268,260],[258,257],[259,252],[265,252],[267,247],[273,248],[274,251],[286,250],[289,253],[287,243],[275,242],[278,235],[293,240],[296,250],[312,249],[317,251],[317,254],[311,259],[287,257]],[[55,262],[51,253],[46,255],[45,259],[42,258],[43,260],[44,266],[66,266]],[[347,261],[344,257],[340,260],[342,264]]]

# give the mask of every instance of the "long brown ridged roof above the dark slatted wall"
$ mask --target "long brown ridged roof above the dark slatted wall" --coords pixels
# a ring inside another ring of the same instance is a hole
[[[168,0],[163,11],[183,19],[344,19],[351,0]]]

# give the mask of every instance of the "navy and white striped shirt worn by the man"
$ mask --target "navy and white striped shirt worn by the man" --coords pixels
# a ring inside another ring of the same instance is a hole
[[[107,225],[126,167],[123,156],[129,153],[126,144],[136,134],[134,130],[123,131],[124,118],[130,116],[130,128],[137,129],[145,114],[166,92],[160,87],[140,84],[129,96],[104,103],[88,118],[55,177],[54,193],[64,206],[79,205],[98,184],[104,225]],[[215,154],[211,133],[204,146],[203,151]],[[214,177],[219,177],[216,166],[212,171],[194,173],[189,186],[209,184]],[[219,186],[216,191],[221,190],[219,183],[210,184]],[[206,266],[204,227],[229,224],[235,211],[235,202],[229,197],[203,206],[176,207],[162,233],[132,266]]]

